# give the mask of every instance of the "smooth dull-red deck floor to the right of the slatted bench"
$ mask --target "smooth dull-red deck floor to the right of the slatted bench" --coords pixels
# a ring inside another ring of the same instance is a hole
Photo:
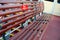
[[[60,17],[52,16],[42,40],[60,40]]]

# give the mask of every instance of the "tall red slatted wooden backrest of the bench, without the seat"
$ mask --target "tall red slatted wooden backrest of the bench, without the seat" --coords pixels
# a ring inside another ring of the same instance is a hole
[[[25,23],[25,21],[33,17],[35,18],[36,15],[40,13],[39,6],[37,6],[39,4],[36,4],[37,2],[12,2],[13,5],[10,3],[11,2],[0,3],[0,36],[3,36],[4,40],[7,40],[5,38],[6,32],[9,33],[8,31],[12,31],[12,28],[21,26],[21,24]],[[22,5],[28,5],[28,9],[22,10]],[[33,26],[37,23],[38,22],[36,22]]]

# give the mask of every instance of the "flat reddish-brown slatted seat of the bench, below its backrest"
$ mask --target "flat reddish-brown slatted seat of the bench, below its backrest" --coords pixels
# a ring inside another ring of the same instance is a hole
[[[14,37],[10,38],[10,40],[39,40],[43,30],[45,29],[45,27],[47,26],[48,21],[45,20],[49,20],[48,19],[49,16],[44,15],[44,17],[42,19],[40,19],[35,26],[33,26],[34,24],[32,24],[31,27],[35,27],[35,28],[28,28],[25,31],[22,31],[22,33],[17,33]],[[43,21],[42,21],[43,20]],[[28,25],[28,27],[30,27]],[[29,30],[30,29],[30,30]],[[28,31],[29,30],[29,31]],[[26,32],[28,31],[28,32]],[[26,32],[26,33],[25,33]]]

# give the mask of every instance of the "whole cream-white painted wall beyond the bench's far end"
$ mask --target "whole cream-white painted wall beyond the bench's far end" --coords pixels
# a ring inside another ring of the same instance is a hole
[[[56,3],[54,5],[54,2],[44,1],[44,8],[45,13],[60,16],[60,4]]]

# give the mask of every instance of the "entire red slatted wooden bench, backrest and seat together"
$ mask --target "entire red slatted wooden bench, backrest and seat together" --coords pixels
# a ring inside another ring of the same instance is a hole
[[[9,3],[12,3],[14,5],[10,5]],[[17,3],[19,3],[19,4],[17,4]],[[21,3],[23,3],[23,4],[21,4]],[[43,12],[43,9],[44,9],[42,7],[43,3],[41,4],[38,2],[39,4],[36,4],[37,2],[29,2],[30,4],[26,4],[26,5],[28,5],[28,10],[22,10],[21,6],[25,5],[25,3],[26,2],[1,2],[0,3],[0,4],[3,4],[0,7],[0,17],[1,17],[0,23],[2,24],[1,30],[0,30],[1,36],[3,34],[5,34],[5,32],[7,32],[8,30],[11,30],[12,28],[15,28],[17,26],[21,26],[20,24],[24,23],[25,21],[27,21],[30,18],[33,18],[34,16],[36,17],[36,15],[38,15],[40,12]],[[7,6],[8,4],[9,4],[9,6]],[[41,7],[42,7],[42,9],[41,9]],[[23,13],[19,14],[19,12],[23,12]],[[42,22],[42,20],[40,20],[42,18],[44,18],[44,14],[42,17],[40,16],[39,18],[37,18],[37,21],[33,21],[32,24],[30,24],[30,26],[28,25],[28,27],[25,28],[22,32],[26,31],[26,33],[27,33],[28,31],[30,31],[29,32],[30,35],[33,31],[35,33],[36,30],[40,29],[40,27],[37,28],[37,26],[39,26],[40,23]],[[43,19],[43,21],[44,21],[44,19]],[[28,29],[28,28],[30,28],[30,29]],[[19,35],[22,34],[22,32],[17,33],[18,35],[16,37],[13,37],[13,39],[19,40],[22,37],[24,37],[24,39],[26,39],[29,36],[29,35],[27,35],[25,38],[25,36],[24,36],[26,34],[25,33],[20,38],[18,38]],[[35,35],[34,33],[32,35]],[[11,39],[11,40],[13,40],[13,39]]]

